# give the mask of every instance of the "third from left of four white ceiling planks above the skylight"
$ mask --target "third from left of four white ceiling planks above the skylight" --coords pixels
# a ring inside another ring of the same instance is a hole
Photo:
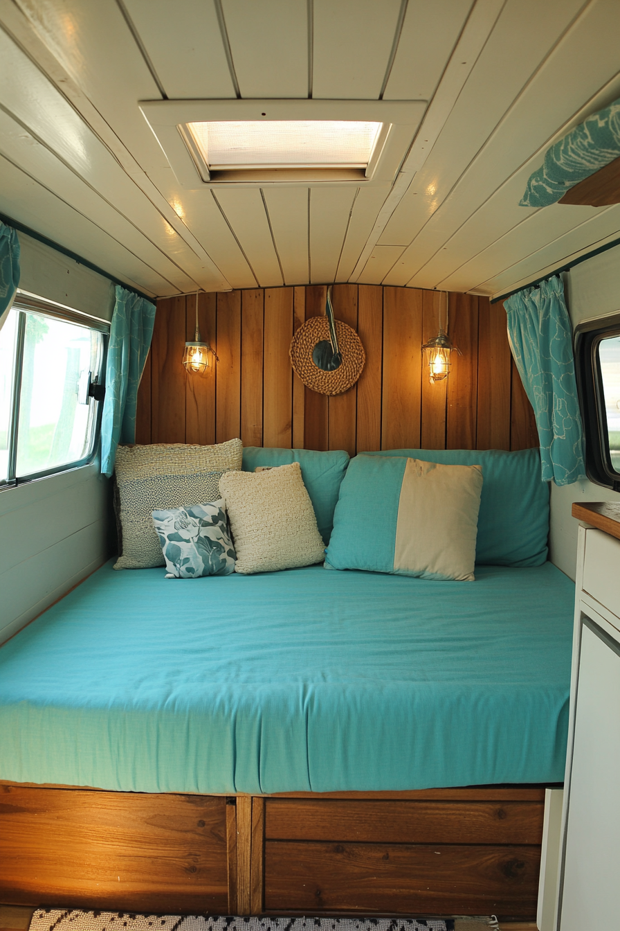
[[[376,101],[401,0],[314,0],[312,96]]]

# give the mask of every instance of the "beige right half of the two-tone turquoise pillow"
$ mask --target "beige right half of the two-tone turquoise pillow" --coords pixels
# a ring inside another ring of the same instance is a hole
[[[407,459],[394,572],[473,582],[481,491],[481,466]]]

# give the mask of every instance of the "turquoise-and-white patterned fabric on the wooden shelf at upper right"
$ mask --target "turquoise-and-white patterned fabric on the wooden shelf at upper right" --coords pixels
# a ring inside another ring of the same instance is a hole
[[[592,114],[547,150],[530,176],[521,207],[547,207],[620,155],[620,99]]]

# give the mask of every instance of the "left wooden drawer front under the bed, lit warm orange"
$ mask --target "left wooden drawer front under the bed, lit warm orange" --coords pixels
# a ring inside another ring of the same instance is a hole
[[[228,911],[226,799],[0,786],[0,901]]]

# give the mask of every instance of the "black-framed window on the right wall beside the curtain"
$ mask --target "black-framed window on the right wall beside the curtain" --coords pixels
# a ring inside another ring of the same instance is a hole
[[[575,360],[587,477],[620,491],[620,315],[578,326]]]

